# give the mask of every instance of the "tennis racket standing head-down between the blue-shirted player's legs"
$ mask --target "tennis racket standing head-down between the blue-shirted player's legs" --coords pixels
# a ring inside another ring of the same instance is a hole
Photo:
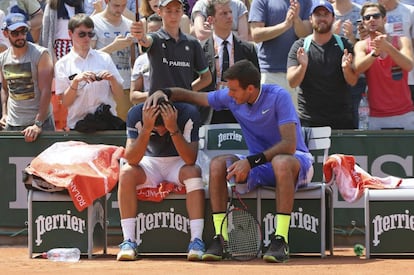
[[[227,167],[231,164],[231,160],[227,160]],[[231,196],[220,228],[223,236],[223,230],[227,227],[228,241],[223,241],[224,251],[231,259],[237,261],[253,260],[262,249],[260,224],[241,199],[234,177],[227,184],[231,188]],[[234,201],[234,197],[237,197],[238,203]]]

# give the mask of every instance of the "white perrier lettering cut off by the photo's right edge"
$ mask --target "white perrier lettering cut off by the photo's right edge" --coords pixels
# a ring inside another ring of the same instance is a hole
[[[391,214],[388,216],[377,215],[372,220],[374,224],[374,238],[372,244],[378,246],[381,242],[379,236],[391,230],[407,229],[414,231],[414,215],[410,215],[409,210],[405,210],[404,214]]]

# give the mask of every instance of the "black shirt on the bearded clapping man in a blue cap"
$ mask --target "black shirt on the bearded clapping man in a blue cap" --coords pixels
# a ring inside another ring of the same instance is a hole
[[[348,52],[353,53],[352,45],[341,38]],[[287,67],[299,65],[297,50],[303,47],[304,39],[297,40],[290,49]],[[352,120],[350,86],[342,72],[343,51],[332,36],[324,45],[313,41],[308,51],[308,67],[299,86],[298,109],[301,119],[321,125],[330,121]]]

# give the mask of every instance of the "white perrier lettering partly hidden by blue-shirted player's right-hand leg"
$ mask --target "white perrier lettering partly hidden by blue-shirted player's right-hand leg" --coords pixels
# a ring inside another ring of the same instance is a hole
[[[270,244],[271,234],[275,232],[275,216],[272,213],[267,213],[263,218],[264,240],[263,244],[268,246]],[[304,229],[305,231],[317,234],[319,228],[319,219],[315,216],[303,213],[303,208],[298,207],[297,212],[290,214],[290,228]]]

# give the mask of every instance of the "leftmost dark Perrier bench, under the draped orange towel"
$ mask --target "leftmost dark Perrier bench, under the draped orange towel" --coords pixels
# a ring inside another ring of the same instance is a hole
[[[77,247],[89,259],[107,252],[106,196],[79,212],[67,192],[29,190],[29,257],[57,247]]]

